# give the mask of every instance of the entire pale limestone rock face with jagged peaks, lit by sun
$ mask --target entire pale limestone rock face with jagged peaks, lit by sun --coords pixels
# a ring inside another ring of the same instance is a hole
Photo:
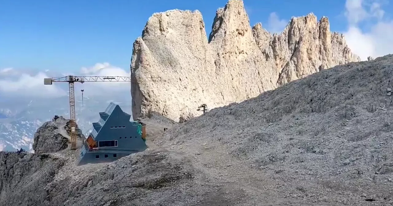
[[[219,8],[207,38],[199,11],[153,14],[134,42],[134,119],[156,111],[175,121],[209,108],[240,102],[321,69],[358,62],[343,35],[314,14],[292,18],[284,31],[270,34],[250,26],[242,0]],[[161,77],[165,82],[145,77]]]

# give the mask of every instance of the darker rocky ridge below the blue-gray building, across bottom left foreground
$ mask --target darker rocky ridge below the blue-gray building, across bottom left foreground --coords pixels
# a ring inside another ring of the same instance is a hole
[[[201,179],[189,161],[165,150],[79,167],[67,156],[72,156],[69,150],[50,155],[0,152],[0,172],[5,174],[0,205],[224,206],[244,195],[238,187]]]

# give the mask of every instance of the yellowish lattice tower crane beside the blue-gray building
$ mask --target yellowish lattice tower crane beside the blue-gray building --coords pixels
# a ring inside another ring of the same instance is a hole
[[[161,77],[146,77],[146,78],[137,78],[140,82],[162,82]],[[69,90],[70,90],[70,126],[71,126],[71,149],[76,149],[76,138],[77,133],[75,131],[76,126],[76,118],[75,118],[75,91],[74,91],[74,83],[75,82],[131,82],[131,77],[119,77],[119,76],[66,76],[66,77],[52,77],[52,78],[44,78],[44,85],[51,85],[53,82],[68,82]],[[83,92],[83,91],[82,91]]]

